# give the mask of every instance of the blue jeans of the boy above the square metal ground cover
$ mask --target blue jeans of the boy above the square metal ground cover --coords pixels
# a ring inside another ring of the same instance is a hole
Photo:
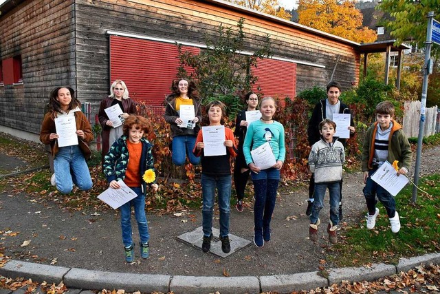
[[[203,193],[203,209],[201,209],[203,235],[212,233],[212,210],[214,209],[215,189],[219,193],[220,237],[229,235],[229,215],[232,178],[228,176],[208,176],[201,174],[201,191]]]

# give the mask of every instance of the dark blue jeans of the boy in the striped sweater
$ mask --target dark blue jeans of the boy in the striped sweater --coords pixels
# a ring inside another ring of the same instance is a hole
[[[373,216],[376,212],[376,196],[386,209],[388,218],[394,218],[396,213],[396,202],[393,195],[388,193],[382,186],[377,185],[374,180],[371,180],[371,176],[374,174],[374,170],[369,171],[369,178],[366,179],[364,187],[364,196],[366,201],[366,207],[369,209],[369,214]]]

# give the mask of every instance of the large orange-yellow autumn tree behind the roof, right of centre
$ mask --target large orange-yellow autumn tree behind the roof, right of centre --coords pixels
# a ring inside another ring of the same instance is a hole
[[[298,23],[359,43],[377,39],[373,30],[362,27],[362,13],[350,0],[298,0]]]

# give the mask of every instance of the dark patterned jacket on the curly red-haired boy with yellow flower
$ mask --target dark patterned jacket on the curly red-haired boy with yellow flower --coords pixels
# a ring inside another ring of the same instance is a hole
[[[104,163],[102,164],[104,176],[107,178],[107,182],[111,182],[112,180],[124,180],[126,168],[129,165],[129,148],[126,146],[126,140],[128,137],[123,135],[120,136],[118,140],[113,143],[110,147],[109,152],[104,157]],[[142,192],[144,195],[146,194],[146,182],[142,178],[147,169],[154,168],[154,158],[151,150],[153,149],[153,145],[146,140],[146,138],[140,139],[142,144],[142,155],[140,157],[140,178],[142,182]],[[156,178],[157,173],[155,171]],[[156,181],[148,183],[148,185],[154,184]]]

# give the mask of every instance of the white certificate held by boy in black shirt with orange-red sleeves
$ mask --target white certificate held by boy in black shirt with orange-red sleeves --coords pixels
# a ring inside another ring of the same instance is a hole
[[[205,147],[203,147],[203,154],[205,156],[226,155],[224,125],[201,127],[201,132],[203,134],[203,143],[205,143]]]

